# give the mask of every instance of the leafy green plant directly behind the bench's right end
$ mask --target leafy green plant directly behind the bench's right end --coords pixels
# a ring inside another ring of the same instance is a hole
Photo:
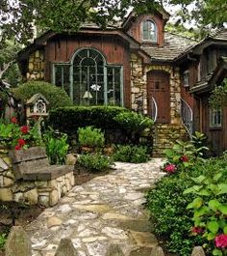
[[[43,134],[46,154],[51,164],[64,164],[69,145],[67,134],[54,131],[52,128]]]

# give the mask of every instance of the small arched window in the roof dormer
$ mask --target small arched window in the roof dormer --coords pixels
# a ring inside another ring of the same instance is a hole
[[[157,26],[152,20],[145,20],[142,23],[142,41],[157,43]]]

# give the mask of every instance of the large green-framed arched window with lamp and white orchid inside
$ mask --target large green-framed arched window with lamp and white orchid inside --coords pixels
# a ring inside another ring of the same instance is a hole
[[[80,49],[70,64],[55,64],[53,70],[53,82],[62,86],[75,104],[123,105],[123,67],[108,65],[98,50]]]

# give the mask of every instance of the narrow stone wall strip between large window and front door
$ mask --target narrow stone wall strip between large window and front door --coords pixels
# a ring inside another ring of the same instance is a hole
[[[146,74],[142,60],[134,53],[131,55],[131,105],[135,111],[147,114]]]

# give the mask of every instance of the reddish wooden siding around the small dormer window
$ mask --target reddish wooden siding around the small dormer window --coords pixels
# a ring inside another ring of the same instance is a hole
[[[159,46],[164,46],[164,20],[162,16],[155,15],[140,15],[139,18],[132,24],[132,26],[128,30],[128,34],[136,39],[139,43],[142,43],[142,33],[141,33],[141,25],[142,22],[150,19],[156,23],[157,26],[157,44]],[[145,43],[149,44],[149,43]],[[156,43],[152,43],[156,44]]]

